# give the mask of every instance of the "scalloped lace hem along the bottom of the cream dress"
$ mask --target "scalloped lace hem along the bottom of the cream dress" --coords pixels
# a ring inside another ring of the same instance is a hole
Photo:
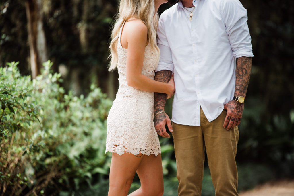
[[[108,145],[108,146],[106,146],[105,153],[108,151],[111,153],[117,153],[118,155],[122,155],[124,153],[131,153],[133,155],[138,155],[139,153],[142,153],[143,155],[147,155],[147,156],[149,156],[151,154],[157,156],[158,154],[161,154],[160,148],[158,148],[158,149],[152,149],[152,148],[139,149],[136,147],[125,147],[123,145],[119,145],[119,146]]]

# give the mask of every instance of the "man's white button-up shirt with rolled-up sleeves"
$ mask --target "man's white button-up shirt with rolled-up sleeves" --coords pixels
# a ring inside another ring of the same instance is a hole
[[[174,72],[172,121],[200,126],[200,107],[213,121],[233,99],[238,57],[253,57],[247,11],[238,0],[193,0],[192,21],[179,1],[158,23],[160,62]]]

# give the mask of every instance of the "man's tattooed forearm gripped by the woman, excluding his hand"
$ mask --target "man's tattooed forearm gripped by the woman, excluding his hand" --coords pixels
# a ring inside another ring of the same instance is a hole
[[[154,80],[168,83],[168,81],[171,79],[172,73],[172,71],[168,70],[158,71],[155,73]],[[164,110],[164,106],[166,104],[166,97],[167,95],[165,93],[154,93],[154,114]]]

